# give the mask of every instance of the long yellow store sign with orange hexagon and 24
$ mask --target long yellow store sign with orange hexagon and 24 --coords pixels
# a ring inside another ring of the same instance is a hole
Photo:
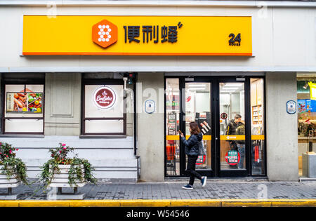
[[[23,16],[23,55],[252,55],[251,17]]]

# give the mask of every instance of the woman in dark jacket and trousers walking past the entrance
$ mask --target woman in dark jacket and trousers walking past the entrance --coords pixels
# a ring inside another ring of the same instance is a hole
[[[203,135],[199,130],[199,126],[196,122],[190,122],[189,124],[190,138],[185,140],[183,133],[180,133],[181,141],[185,145],[185,154],[187,154],[187,170],[186,172],[190,175],[189,184],[183,186],[183,189],[193,189],[195,178],[201,180],[202,187],[206,185],[207,177],[202,177],[195,171],[195,163],[197,163],[197,157],[199,156],[199,142],[202,142]]]

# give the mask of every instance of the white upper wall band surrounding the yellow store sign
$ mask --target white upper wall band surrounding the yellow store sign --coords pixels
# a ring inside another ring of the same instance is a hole
[[[316,8],[58,6],[58,15],[251,15],[254,57],[24,56],[22,15],[44,6],[0,6],[0,72],[48,71],[315,71]],[[10,22],[8,22],[10,21]],[[180,38],[180,36],[178,36]]]

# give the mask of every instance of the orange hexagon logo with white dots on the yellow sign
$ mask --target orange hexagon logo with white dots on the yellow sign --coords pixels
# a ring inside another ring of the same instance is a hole
[[[92,41],[107,48],[117,42],[117,26],[108,20],[102,20],[92,27]]]

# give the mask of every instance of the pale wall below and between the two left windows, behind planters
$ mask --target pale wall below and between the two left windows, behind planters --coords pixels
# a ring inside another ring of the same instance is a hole
[[[113,74],[109,76],[113,78]],[[45,80],[45,137],[2,135],[0,138],[1,142],[20,149],[17,156],[25,161],[29,178],[37,178],[40,166],[50,157],[48,150],[62,142],[74,147],[80,158],[91,162],[99,181],[136,182],[138,165],[133,154],[133,114],[126,114],[126,138],[79,138],[81,74],[46,73]],[[128,109],[133,109],[130,98],[126,103]]]

